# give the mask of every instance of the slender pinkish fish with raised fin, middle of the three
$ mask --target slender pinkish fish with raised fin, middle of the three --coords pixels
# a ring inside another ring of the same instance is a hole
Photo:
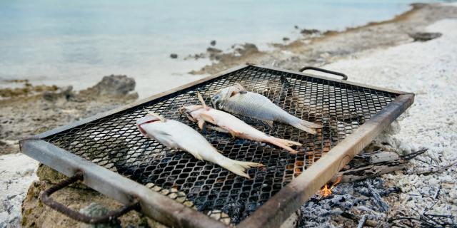
[[[301,143],[274,138],[273,136],[267,135],[260,130],[253,128],[251,125],[244,123],[243,120],[236,118],[230,113],[208,107],[205,104],[200,93],[198,93],[198,97],[202,105],[185,106],[181,108],[179,112],[181,114],[185,113],[189,120],[194,123],[198,123],[201,130],[206,128],[206,122],[208,122],[217,126],[211,127],[211,129],[224,133],[230,133],[233,138],[243,138],[258,142],[269,142],[273,145],[287,150],[288,152],[291,152],[291,154],[295,155],[297,153],[297,151],[293,150],[290,146],[300,146]]]

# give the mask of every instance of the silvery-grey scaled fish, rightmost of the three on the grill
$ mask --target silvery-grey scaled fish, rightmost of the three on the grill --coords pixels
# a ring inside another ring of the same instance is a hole
[[[219,90],[211,97],[211,102],[215,108],[262,120],[270,126],[273,125],[273,121],[277,121],[311,134],[317,133],[316,128],[322,128],[321,125],[301,120],[287,113],[263,95],[246,91],[239,83]]]

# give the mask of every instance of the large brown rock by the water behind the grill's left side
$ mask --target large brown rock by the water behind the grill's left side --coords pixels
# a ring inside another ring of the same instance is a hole
[[[107,97],[123,97],[129,95],[135,90],[134,78],[127,76],[104,76],[99,83],[87,90],[81,90],[82,95],[107,96]],[[136,94],[138,97],[138,94]]]

